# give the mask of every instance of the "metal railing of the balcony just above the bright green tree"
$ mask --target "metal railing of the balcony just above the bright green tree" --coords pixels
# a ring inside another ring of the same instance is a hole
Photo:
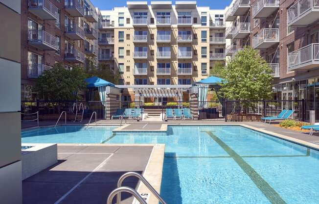
[[[266,42],[279,42],[279,28],[264,28],[252,39],[254,48]]]

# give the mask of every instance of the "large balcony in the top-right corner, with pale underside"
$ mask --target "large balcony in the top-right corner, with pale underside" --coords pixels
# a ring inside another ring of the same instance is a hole
[[[288,26],[308,26],[319,20],[319,0],[299,0],[287,10]]]

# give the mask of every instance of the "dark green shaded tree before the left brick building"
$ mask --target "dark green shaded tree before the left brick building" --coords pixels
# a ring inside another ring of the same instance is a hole
[[[44,99],[77,100],[79,96],[74,93],[86,88],[86,77],[81,67],[67,70],[63,64],[56,63],[37,78],[35,89]]]

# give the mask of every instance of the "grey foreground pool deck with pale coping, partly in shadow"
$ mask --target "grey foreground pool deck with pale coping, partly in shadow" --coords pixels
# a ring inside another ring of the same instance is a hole
[[[58,163],[23,180],[23,204],[105,204],[117,180],[134,171],[160,191],[164,145],[58,145]],[[123,186],[150,193],[136,178]],[[123,204],[133,197],[122,194]],[[156,204],[150,196],[149,204]]]

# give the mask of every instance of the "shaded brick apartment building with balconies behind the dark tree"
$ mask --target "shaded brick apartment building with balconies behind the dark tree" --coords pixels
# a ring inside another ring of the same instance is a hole
[[[21,9],[21,98],[34,100],[44,70],[97,57],[98,11],[89,0],[22,0]]]

